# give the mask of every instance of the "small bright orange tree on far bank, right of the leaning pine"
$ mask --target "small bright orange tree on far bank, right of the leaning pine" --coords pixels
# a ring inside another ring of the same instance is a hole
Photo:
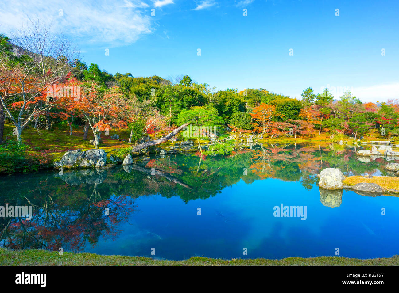
[[[273,117],[277,115],[281,116],[281,114],[276,111],[276,105],[267,105],[265,103],[253,108],[250,115],[253,121],[255,121],[252,122],[253,128],[256,132],[261,133],[261,138],[263,138],[263,134],[270,132],[273,124]]]

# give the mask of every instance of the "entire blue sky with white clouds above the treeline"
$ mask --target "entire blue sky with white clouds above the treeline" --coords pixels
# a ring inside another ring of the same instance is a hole
[[[298,98],[306,87],[320,92],[328,85],[335,98],[345,88],[363,102],[399,98],[397,0],[70,3],[0,0],[0,32],[38,15],[79,43],[83,61],[113,74],[188,74],[217,89],[265,88]]]

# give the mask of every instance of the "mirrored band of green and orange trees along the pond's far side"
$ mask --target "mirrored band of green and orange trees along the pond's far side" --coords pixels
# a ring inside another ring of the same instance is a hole
[[[383,171],[383,159],[361,163],[355,149],[336,144],[261,144],[240,147],[227,157],[170,155],[132,165],[130,172],[79,170],[2,177],[0,205],[32,205],[33,218],[0,218],[1,245],[10,248],[45,248],[80,251],[99,238],[115,238],[119,223],[134,208],[134,199],[159,194],[184,202],[207,199],[241,179],[247,184],[265,178],[300,181],[306,189],[326,167],[346,174]],[[152,169],[155,175],[151,175]],[[243,169],[247,168],[247,175]],[[59,177],[59,178],[55,178]],[[61,180],[62,179],[62,180]],[[339,206],[340,195],[320,194],[327,206]],[[110,209],[106,216],[105,208]]]

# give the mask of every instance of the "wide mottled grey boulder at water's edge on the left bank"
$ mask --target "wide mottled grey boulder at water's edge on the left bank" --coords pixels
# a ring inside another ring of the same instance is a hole
[[[107,165],[107,153],[103,149],[75,149],[64,153],[60,160],[54,160],[53,165],[63,169],[101,168]]]

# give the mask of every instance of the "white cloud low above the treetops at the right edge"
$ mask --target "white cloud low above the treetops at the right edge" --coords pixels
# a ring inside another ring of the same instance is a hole
[[[372,85],[369,87],[354,87],[352,94],[363,103],[386,102],[389,99],[399,99],[399,83]]]

